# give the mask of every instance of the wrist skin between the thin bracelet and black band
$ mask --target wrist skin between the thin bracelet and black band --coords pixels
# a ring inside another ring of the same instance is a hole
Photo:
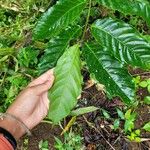
[[[20,126],[20,124],[16,120],[10,118],[1,119],[0,127],[10,132],[16,140],[25,134],[25,130]]]

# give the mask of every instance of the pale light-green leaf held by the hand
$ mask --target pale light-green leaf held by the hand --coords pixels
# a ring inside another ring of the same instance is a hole
[[[55,83],[49,92],[50,108],[48,117],[57,123],[67,115],[77,103],[81,93],[81,66],[79,45],[67,49],[55,68]]]

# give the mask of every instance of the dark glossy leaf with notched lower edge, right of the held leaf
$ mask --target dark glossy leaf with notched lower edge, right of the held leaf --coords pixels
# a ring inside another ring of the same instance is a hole
[[[100,45],[86,44],[83,49],[90,73],[105,85],[109,96],[120,96],[126,104],[134,101],[135,86],[123,65]]]

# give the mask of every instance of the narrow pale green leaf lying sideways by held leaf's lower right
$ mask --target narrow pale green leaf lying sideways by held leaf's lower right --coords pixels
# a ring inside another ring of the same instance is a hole
[[[83,115],[83,114],[86,114],[86,113],[90,113],[90,112],[93,112],[93,111],[96,111],[98,110],[99,108],[97,107],[94,107],[94,106],[90,106],[90,107],[84,107],[84,108],[78,108],[76,110],[73,110],[70,115],[71,116],[79,116],[79,115]]]

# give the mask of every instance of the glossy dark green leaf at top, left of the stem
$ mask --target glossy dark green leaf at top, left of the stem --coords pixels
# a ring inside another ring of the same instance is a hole
[[[34,38],[42,39],[56,35],[79,17],[86,0],[59,0],[43,14],[34,30]]]

